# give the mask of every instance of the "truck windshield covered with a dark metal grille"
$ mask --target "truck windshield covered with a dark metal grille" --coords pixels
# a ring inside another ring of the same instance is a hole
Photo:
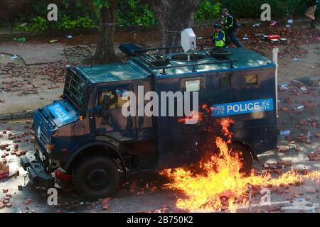
[[[85,79],[82,79],[73,70],[68,70],[65,77],[63,97],[68,99],[80,111],[84,111],[87,104],[87,87],[88,84]]]

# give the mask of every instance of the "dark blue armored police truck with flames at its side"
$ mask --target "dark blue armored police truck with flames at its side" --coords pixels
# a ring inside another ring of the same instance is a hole
[[[66,67],[61,99],[36,110],[36,153],[21,157],[36,187],[54,187],[55,172],[69,176],[84,197],[110,195],[122,175],[198,160],[219,118],[235,121],[231,146],[242,151],[244,172],[258,154],[276,147],[276,65],[271,60],[246,48],[171,54],[152,54],[169,48],[132,44],[120,49],[131,55],[127,62]],[[121,95],[138,96],[141,86],[144,94],[198,92],[198,105],[213,111],[199,108],[203,118],[195,124],[178,116],[124,116]]]

